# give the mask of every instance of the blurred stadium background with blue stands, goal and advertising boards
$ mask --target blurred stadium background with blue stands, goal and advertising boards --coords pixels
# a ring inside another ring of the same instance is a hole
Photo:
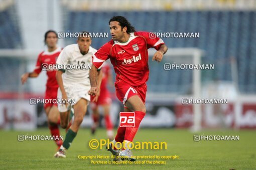
[[[33,6],[33,7],[31,7]],[[162,38],[169,47],[161,63],[149,61],[144,127],[256,128],[255,0],[0,0],[0,128],[47,126],[42,104],[46,73],[22,85],[45,48],[44,33],[109,32],[108,20],[123,15],[137,30],[199,32],[199,38]],[[94,38],[99,48],[108,38]],[[59,39],[59,46],[75,43]],[[150,52],[152,57],[152,52]],[[199,58],[199,59],[198,59]],[[164,70],[164,63],[208,63],[211,70]],[[114,91],[111,118],[122,104]],[[228,104],[182,105],[181,98],[224,98]],[[83,126],[90,126],[87,114]],[[194,126],[193,126],[194,125]]]

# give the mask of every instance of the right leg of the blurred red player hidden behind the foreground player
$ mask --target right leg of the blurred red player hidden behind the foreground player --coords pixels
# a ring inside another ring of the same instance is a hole
[[[105,120],[105,126],[107,130],[107,137],[112,140],[113,139],[113,124],[109,115],[110,111],[110,104],[103,104],[102,108],[104,110],[104,120]]]

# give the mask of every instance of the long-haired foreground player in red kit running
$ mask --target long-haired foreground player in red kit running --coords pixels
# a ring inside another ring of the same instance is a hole
[[[112,39],[101,46],[92,56],[93,65],[89,74],[91,88],[88,93],[96,95],[98,92],[96,70],[110,58],[116,73],[116,96],[123,102],[124,111],[135,112],[135,127],[118,127],[112,142],[114,144],[119,144],[116,142],[125,143],[124,149],[120,153],[117,148],[112,147],[111,143],[107,147],[114,156],[120,155],[127,160],[134,161],[136,159],[127,143],[133,141],[146,114],[146,82],[149,78],[148,48],[154,47],[157,50],[153,55],[153,60],[160,62],[163,54],[167,51],[167,46],[162,39],[152,36],[150,32],[136,31],[123,16],[113,16],[108,23]],[[131,148],[131,143],[129,144]],[[118,160],[118,158],[114,158],[114,160]]]

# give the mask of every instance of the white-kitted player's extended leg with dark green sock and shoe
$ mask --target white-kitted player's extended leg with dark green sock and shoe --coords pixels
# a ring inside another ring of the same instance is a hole
[[[70,144],[74,140],[77,131],[80,127],[80,124],[83,121],[83,117],[87,110],[88,101],[84,98],[80,98],[77,103],[73,106],[74,108],[74,120],[72,125],[67,131],[63,144],[60,147],[60,150],[54,155],[55,157],[66,157],[65,152],[70,147]]]

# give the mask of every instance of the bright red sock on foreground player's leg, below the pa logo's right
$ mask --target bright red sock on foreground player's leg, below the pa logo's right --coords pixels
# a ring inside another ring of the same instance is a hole
[[[134,136],[137,133],[137,130],[145,114],[146,113],[142,111],[135,111],[135,127],[126,127],[124,140],[134,140]]]

